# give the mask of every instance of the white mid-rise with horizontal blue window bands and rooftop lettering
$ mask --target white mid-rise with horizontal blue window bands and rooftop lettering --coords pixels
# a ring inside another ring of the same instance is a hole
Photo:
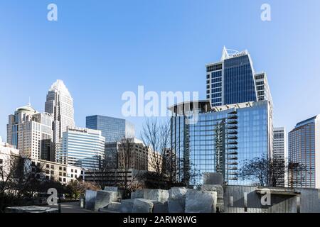
[[[85,169],[98,169],[105,160],[105,138],[101,131],[67,128],[58,145],[57,162]]]

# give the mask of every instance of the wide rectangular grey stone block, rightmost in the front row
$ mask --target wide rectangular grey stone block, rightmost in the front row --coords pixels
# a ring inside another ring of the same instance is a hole
[[[217,192],[188,190],[186,193],[186,213],[215,213]]]

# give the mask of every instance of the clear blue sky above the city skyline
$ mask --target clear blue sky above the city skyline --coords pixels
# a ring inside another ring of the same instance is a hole
[[[58,5],[58,22],[46,19]],[[260,20],[271,5],[272,21]],[[319,0],[127,0],[0,2],[0,135],[8,115],[31,103],[44,111],[50,84],[63,79],[75,122],[122,117],[122,93],[198,91],[223,45],[247,49],[267,72],[274,126],[287,131],[320,114]],[[142,118],[130,118],[141,127]]]

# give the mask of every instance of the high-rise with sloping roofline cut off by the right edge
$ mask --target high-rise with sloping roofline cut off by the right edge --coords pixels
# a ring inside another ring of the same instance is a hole
[[[288,144],[289,187],[320,189],[320,115],[297,123]],[[298,164],[303,167],[295,168]]]

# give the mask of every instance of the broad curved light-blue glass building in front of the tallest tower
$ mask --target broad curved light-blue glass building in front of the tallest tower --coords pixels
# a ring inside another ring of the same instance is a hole
[[[272,154],[270,102],[211,108],[210,101],[199,101],[191,118],[183,111],[184,104],[169,108],[178,180],[201,184],[203,172],[218,172],[227,184],[252,183],[240,179],[239,170],[245,160]]]

